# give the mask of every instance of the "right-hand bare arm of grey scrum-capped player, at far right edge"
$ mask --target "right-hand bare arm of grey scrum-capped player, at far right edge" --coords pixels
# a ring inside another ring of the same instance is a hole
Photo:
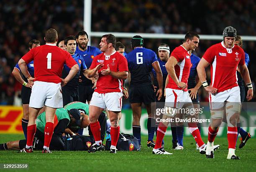
[[[253,87],[251,84],[251,78],[249,75],[248,68],[247,68],[246,64],[243,64],[243,65],[238,65],[238,69],[240,70],[241,76],[248,87],[246,99],[247,99],[247,101],[250,101],[253,97]]]

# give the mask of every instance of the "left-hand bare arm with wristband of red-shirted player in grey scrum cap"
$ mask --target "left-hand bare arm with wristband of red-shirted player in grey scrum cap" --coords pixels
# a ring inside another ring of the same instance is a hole
[[[204,85],[204,83],[206,81],[205,68],[209,65],[210,65],[210,63],[208,63],[204,58],[202,58],[197,65],[197,75],[199,77],[200,82],[205,87],[205,90],[208,92],[211,92],[212,94],[215,94],[218,90],[217,88],[208,86],[207,82],[206,82],[206,85]]]

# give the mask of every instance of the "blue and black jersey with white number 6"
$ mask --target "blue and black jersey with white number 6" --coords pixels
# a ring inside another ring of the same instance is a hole
[[[125,57],[131,72],[131,87],[151,85],[152,63],[157,61],[156,53],[143,47],[137,47]]]

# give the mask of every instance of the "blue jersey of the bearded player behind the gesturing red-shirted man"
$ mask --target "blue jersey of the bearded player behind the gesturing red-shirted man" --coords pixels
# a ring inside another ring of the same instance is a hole
[[[87,50],[85,51],[81,51],[79,50],[79,47],[77,46],[76,52],[77,54],[81,55],[84,59],[85,65],[90,68],[90,66],[92,65],[92,60],[96,55],[101,54],[100,49],[98,49],[97,47],[92,47],[92,46],[87,46]],[[87,79],[86,77],[84,77],[84,75],[81,73],[82,76],[82,82],[79,84],[81,85],[92,85],[92,81]]]

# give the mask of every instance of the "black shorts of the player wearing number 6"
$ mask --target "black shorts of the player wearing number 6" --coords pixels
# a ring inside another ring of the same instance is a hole
[[[144,103],[145,105],[151,102],[156,102],[153,85],[143,87],[130,87],[129,90],[130,103]]]

